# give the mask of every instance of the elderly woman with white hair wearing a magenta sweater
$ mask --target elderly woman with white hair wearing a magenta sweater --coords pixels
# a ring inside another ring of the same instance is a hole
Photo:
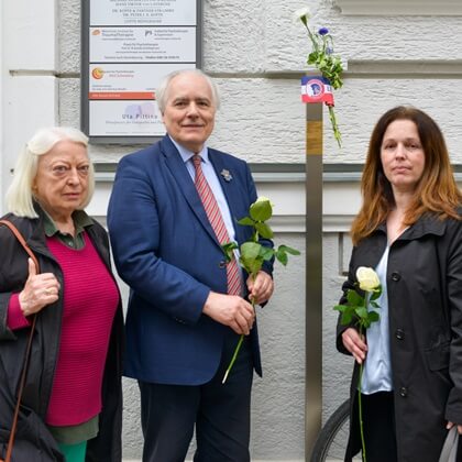
[[[94,188],[88,139],[40,130],[21,153],[0,227],[0,458],[11,428],[31,316],[36,314],[13,460],[121,460],[120,293],[108,237],[84,208]]]

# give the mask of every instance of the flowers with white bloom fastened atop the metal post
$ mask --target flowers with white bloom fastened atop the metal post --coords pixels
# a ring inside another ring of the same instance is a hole
[[[320,28],[318,32],[309,29],[308,20],[311,18],[309,8],[301,8],[294,13],[297,21],[301,21],[308,32],[308,38],[311,42],[311,52],[308,54],[307,64],[314,65],[329,81],[334,90],[342,87],[343,66],[340,56],[333,54],[333,37],[329,33],[329,29]],[[333,136],[342,146],[342,135],[337,123],[336,112],[333,110],[333,98],[326,101],[329,108],[329,119],[333,130]]]

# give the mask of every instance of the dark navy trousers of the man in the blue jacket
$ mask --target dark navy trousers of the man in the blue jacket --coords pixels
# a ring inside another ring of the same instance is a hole
[[[195,462],[249,462],[252,352],[245,339],[227,383],[221,381],[239,336],[230,334],[220,366],[204,385],[139,382],[143,462],[183,462],[196,426]]]

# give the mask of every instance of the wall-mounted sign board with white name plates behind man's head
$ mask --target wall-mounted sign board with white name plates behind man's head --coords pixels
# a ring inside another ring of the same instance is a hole
[[[161,79],[201,67],[200,0],[82,0],[81,128],[92,143],[151,143]]]

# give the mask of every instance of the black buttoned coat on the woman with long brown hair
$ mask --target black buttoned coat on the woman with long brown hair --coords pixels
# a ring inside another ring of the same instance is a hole
[[[344,293],[359,266],[376,267],[386,242],[383,226],[353,249]],[[408,228],[389,249],[386,282],[398,460],[436,462],[447,421],[462,424],[462,221],[427,216]],[[345,329],[339,322],[343,353]],[[355,364],[352,397],[358,377]],[[352,418],[345,460],[361,448]]]

